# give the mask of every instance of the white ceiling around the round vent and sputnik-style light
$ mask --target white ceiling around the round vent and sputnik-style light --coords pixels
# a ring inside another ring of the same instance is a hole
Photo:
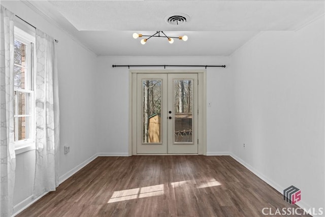
[[[28,1],[97,55],[228,56],[261,31],[297,30],[324,14],[324,1]],[[170,15],[186,14],[179,25]],[[187,35],[186,42],[134,32]]]

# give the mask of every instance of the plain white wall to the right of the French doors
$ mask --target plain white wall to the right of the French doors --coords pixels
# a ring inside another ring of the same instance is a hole
[[[324,59],[321,17],[259,34],[230,64],[231,151],[278,191],[301,189],[306,208],[325,208]]]

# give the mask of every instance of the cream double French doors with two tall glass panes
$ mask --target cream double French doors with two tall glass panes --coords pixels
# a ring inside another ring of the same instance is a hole
[[[198,73],[137,74],[137,153],[198,153]]]

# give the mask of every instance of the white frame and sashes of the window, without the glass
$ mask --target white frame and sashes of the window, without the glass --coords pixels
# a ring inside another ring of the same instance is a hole
[[[28,117],[29,123],[28,123],[28,134],[29,138],[18,140],[16,141],[16,138],[14,138],[14,145],[15,145],[15,152],[16,154],[23,153],[25,151],[36,149],[36,111],[35,111],[35,69],[36,69],[36,36],[32,36],[31,34],[27,33],[26,31],[22,30],[21,28],[15,26],[14,27],[14,40],[19,41],[23,44],[26,44],[26,68],[27,68],[27,75],[26,77],[29,77],[29,82],[27,83],[27,87],[25,89],[21,88],[15,88],[14,87],[14,105],[16,108],[14,109],[17,111],[18,103],[18,93],[26,93],[29,94],[29,106],[30,109],[28,115],[19,115],[14,113],[14,121],[16,122],[16,118],[20,116]],[[16,95],[17,92],[17,95]],[[15,125],[15,135],[17,135],[17,129],[18,126]]]

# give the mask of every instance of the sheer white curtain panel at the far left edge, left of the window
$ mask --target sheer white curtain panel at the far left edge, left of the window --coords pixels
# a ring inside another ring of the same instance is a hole
[[[15,184],[15,146],[13,114],[14,19],[15,15],[1,6],[0,20],[0,214],[11,216]]]

